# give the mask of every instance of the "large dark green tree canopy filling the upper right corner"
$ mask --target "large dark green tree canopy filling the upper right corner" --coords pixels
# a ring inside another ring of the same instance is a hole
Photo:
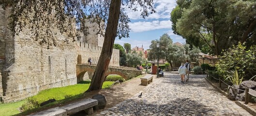
[[[177,0],[177,4],[171,13],[174,33],[188,43],[207,45],[204,49],[215,55],[238,42],[247,47],[256,44],[255,0]]]

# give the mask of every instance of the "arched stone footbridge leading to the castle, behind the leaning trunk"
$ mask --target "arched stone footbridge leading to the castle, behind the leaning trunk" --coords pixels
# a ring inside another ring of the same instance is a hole
[[[91,79],[95,69],[96,65],[76,64],[77,81],[83,78],[85,73],[88,73],[89,78]],[[122,76],[125,80],[128,80],[142,74],[142,71],[136,70],[135,68],[108,66],[105,76],[109,74],[118,74]]]

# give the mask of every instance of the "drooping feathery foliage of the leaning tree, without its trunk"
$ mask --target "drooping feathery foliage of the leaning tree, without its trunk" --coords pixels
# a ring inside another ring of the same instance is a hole
[[[52,24],[57,24],[60,32],[68,33],[73,41],[79,39],[80,33],[74,34],[71,31],[78,29],[88,34],[90,27],[85,25],[88,22],[98,24],[98,33],[104,36],[111,1],[113,0],[0,0],[0,5],[4,9],[12,8],[13,14],[10,15],[9,27],[15,34],[22,31],[24,27],[28,27],[36,30],[31,31],[35,35],[35,41],[41,44],[56,45],[58,41],[56,38],[46,39],[45,34],[40,33],[46,31],[46,34],[52,37],[55,34],[51,29]],[[120,0],[120,2],[122,7],[120,7],[116,34],[119,38],[129,37],[128,22],[130,19],[125,9],[140,10],[142,17],[155,12],[152,0]]]

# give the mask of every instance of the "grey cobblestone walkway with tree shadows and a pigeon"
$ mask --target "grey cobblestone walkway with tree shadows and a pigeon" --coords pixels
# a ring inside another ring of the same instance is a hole
[[[190,75],[182,84],[180,76],[165,73],[154,78],[139,93],[96,116],[252,116],[235,102],[229,101],[204,79]]]

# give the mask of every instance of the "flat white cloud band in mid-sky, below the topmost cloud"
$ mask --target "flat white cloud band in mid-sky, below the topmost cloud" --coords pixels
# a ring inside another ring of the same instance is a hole
[[[142,31],[148,31],[148,30],[155,30],[155,29],[171,29],[171,21],[169,20],[154,20],[152,22],[146,22],[146,21],[139,21],[134,23],[129,23],[129,27],[132,32],[142,32]]]

